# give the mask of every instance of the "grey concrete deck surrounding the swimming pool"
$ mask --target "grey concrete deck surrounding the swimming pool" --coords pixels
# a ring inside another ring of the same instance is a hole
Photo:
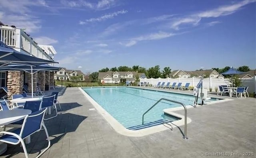
[[[179,92],[192,94],[192,91]],[[41,158],[227,157],[208,156],[210,154],[254,157],[247,155],[256,152],[256,99],[223,98],[232,100],[188,109],[188,117],[192,120],[188,124],[188,140],[182,138],[180,130],[183,131],[184,126],[129,137],[118,134],[77,87],[67,88],[58,98],[61,114],[45,121],[52,146]],[[175,113],[184,115],[183,110]],[[27,144],[30,158],[36,157],[46,147],[45,138],[44,131],[32,135],[31,143]],[[8,145],[8,150],[0,158],[12,156],[24,157],[22,147]]]

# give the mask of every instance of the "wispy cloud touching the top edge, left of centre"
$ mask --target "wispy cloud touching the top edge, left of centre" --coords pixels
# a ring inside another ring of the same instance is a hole
[[[87,0],[61,0],[62,5],[72,8],[87,8],[92,10],[105,10],[117,5],[116,0],[99,0],[97,3],[91,3]]]

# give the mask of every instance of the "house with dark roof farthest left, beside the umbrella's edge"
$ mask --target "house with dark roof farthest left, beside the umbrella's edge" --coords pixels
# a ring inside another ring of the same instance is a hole
[[[62,68],[59,71],[55,71],[54,79],[63,79],[70,80],[73,76],[81,76],[82,80],[85,80],[85,75],[80,70],[68,70],[66,68]]]

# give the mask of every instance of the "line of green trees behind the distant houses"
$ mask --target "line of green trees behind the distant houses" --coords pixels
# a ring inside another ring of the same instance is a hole
[[[223,73],[225,71],[228,71],[228,69],[230,69],[229,66],[226,66],[224,68],[216,68],[216,67],[212,68],[212,70],[216,70],[218,73]],[[136,71],[138,73],[145,73],[145,75],[148,78],[154,78],[154,79],[157,79],[159,77],[167,78],[172,72],[171,70],[172,69],[170,69],[170,67],[164,67],[164,69],[160,71],[159,65],[150,67],[148,69],[146,69],[145,67],[140,67],[139,65],[134,65],[132,67],[128,67],[128,66],[112,67],[110,69],[106,67],[99,70],[98,72],[90,73],[89,79],[98,80],[99,72],[107,72],[107,71]],[[203,70],[203,69],[200,69],[200,70]],[[247,71],[250,71],[250,68],[244,65],[244,66],[238,67],[237,70],[242,72],[247,72]]]

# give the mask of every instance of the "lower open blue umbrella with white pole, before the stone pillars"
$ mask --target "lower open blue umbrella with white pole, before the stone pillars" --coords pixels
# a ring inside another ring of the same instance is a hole
[[[38,71],[53,71],[53,70],[60,70],[61,67],[53,67],[47,64],[39,65],[39,66],[27,66],[27,65],[6,65],[0,67],[0,71],[26,71],[27,73],[31,74],[31,91],[32,91],[32,98],[33,98],[33,74]]]

